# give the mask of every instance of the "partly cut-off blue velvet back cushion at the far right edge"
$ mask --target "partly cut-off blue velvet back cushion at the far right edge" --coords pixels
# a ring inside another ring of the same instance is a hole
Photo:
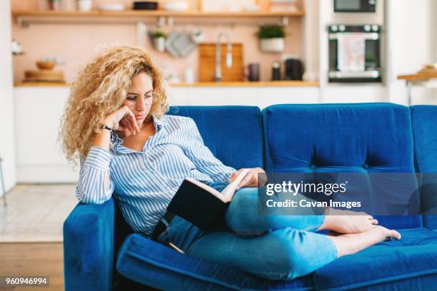
[[[437,229],[437,106],[411,106],[414,163],[421,173],[423,226]]]

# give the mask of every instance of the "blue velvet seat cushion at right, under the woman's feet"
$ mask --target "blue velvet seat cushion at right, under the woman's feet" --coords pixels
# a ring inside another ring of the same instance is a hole
[[[313,273],[318,290],[431,290],[437,280],[437,233],[400,230],[401,240],[346,255]]]

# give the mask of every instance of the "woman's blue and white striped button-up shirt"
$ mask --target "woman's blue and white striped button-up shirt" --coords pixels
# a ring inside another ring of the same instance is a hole
[[[171,198],[186,177],[204,183],[227,182],[234,168],[223,165],[204,145],[193,119],[154,118],[156,133],[136,151],[116,136],[108,151],[97,146],[81,160],[76,196],[83,203],[104,203],[114,197],[131,228],[151,235]],[[105,188],[109,171],[110,187]]]

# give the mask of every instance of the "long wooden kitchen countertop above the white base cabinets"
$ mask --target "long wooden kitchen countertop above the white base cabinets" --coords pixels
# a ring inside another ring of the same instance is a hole
[[[49,82],[21,82],[15,83],[16,87],[23,86],[58,86],[68,87],[69,83],[49,83]],[[171,83],[171,87],[318,87],[318,82],[311,81],[258,81],[258,82],[195,82],[195,83]]]

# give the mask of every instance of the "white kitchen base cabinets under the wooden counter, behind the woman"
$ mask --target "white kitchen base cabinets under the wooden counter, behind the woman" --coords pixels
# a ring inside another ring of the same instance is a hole
[[[58,143],[58,129],[69,97],[67,87],[14,88],[16,172],[18,183],[76,183],[76,171],[67,163]],[[174,106],[266,106],[279,103],[317,103],[318,87],[174,87]]]

